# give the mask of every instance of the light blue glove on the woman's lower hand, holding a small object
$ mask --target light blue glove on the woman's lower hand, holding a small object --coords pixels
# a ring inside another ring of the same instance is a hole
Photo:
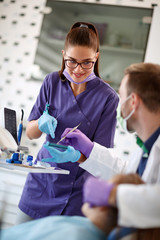
[[[68,146],[65,151],[61,152],[54,147],[48,146],[48,144],[49,142],[43,146],[48,150],[52,158],[44,158],[41,160],[41,162],[77,162],[81,156],[81,153],[78,150],[75,150],[72,146]]]

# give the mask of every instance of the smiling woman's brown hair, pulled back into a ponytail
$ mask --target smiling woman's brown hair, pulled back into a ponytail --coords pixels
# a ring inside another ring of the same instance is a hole
[[[91,23],[76,22],[71,27],[65,39],[65,49],[69,46],[85,46],[99,52],[99,36],[96,27]],[[64,79],[63,71],[65,69],[65,62],[62,59],[62,67],[59,71],[59,76]],[[94,73],[99,75],[99,57],[94,66]]]

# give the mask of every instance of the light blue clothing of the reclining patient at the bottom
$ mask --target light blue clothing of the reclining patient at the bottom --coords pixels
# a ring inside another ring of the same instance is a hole
[[[106,235],[85,217],[54,216],[2,230],[1,240],[105,240]]]

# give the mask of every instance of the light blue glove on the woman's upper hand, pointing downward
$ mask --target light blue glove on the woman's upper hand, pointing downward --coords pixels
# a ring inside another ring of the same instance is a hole
[[[38,127],[41,132],[50,134],[52,138],[55,138],[55,130],[57,127],[57,120],[44,111],[42,116],[38,120]]]

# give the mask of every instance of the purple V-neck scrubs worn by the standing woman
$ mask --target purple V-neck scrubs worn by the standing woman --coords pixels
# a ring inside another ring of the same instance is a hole
[[[92,141],[113,147],[118,96],[103,80],[96,77],[75,97],[68,80],[62,81],[58,72],[50,73],[43,81],[28,120],[38,119],[47,102],[49,114],[58,118],[58,125],[55,139],[47,135],[46,141],[57,143],[67,127],[81,123],[79,129]],[[37,160],[48,157],[50,154],[42,146]],[[82,216],[82,187],[90,174],[78,163],[52,163],[52,166],[69,170],[70,174],[28,174],[19,208],[34,219],[51,215]]]

